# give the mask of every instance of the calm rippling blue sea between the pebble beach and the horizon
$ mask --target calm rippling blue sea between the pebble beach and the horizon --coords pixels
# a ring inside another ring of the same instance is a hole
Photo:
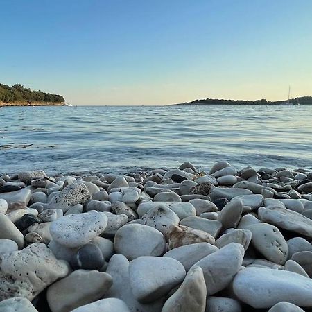
[[[312,168],[312,106],[78,106],[0,109],[0,173]]]

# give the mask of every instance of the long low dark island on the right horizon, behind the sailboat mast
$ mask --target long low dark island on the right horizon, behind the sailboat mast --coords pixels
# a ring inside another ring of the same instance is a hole
[[[214,98],[206,98],[173,105],[284,105],[288,104],[288,100],[266,101],[265,98],[256,101],[245,100],[219,100]],[[289,104],[312,105],[312,96],[302,96],[300,98],[291,98]]]

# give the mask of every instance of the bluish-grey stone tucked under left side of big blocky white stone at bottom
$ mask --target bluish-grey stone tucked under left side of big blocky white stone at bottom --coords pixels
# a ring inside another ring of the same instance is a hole
[[[132,312],[161,312],[164,298],[148,304],[141,304],[135,299],[130,288],[129,265],[128,259],[122,254],[112,256],[106,272],[112,276],[114,283],[105,294],[105,297],[116,297],[123,300]]]

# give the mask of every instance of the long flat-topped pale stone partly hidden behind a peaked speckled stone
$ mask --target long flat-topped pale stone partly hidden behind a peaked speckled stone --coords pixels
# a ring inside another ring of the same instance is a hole
[[[187,218],[187,216],[196,215],[196,209],[190,202],[141,202],[137,207],[137,214],[141,218],[150,209],[162,206],[166,206],[175,212],[180,220]]]

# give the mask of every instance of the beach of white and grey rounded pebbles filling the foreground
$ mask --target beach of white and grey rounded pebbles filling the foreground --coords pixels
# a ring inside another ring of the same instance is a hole
[[[0,311],[311,311],[312,171],[0,177]]]

